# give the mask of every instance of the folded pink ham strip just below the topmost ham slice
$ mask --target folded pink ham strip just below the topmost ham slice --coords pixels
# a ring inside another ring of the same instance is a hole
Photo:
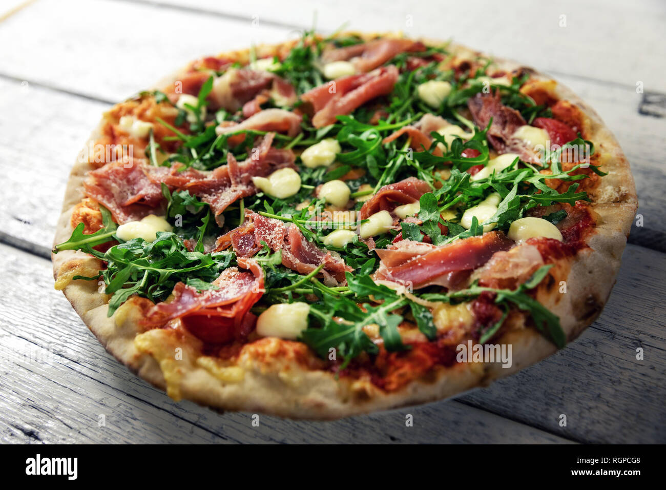
[[[319,128],[335,123],[337,116],[349,114],[376,97],[390,94],[396,81],[398,69],[389,65],[324,83],[301,95],[301,99],[314,107],[312,125]]]

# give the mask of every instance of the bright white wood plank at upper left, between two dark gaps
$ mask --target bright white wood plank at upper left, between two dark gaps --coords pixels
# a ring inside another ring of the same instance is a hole
[[[39,0],[0,23],[0,73],[119,101],[192,59],[289,31],[126,2]]]

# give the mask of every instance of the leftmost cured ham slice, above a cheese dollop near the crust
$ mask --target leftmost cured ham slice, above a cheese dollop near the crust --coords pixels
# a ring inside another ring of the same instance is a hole
[[[83,183],[88,197],[102,203],[119,224],[135,221],[153,213],[162,201],[158,183],[145,173],[141,160],[107,163],[88,174]]]

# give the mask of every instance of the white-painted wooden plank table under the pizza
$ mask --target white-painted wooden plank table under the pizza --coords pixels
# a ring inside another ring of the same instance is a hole
[[[328,423],[262,416],[252,427],[247,413],[174,403],[119,365],[53,289],[49,249],[69,169],[102,111],[200,55],[296,35],[312,25],[314,3],[5,0],[1,440],[666,442],[666,8],[659,0],[507,4],[328,0],[317,3],[317,25],[454,37],[551,73],[599,111],[631,161],[643,217],[601,318],[549,359],[455,400]]]

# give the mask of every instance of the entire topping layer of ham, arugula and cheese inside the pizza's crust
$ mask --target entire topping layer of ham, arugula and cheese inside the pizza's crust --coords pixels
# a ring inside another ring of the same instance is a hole
[[[386,390],[451,365],[455,343],[490,341],[516,310],[563,345],[529,291],[594,226],[577,181],[592,189],[603,172],[561,161],[591,146],[580,117],[523,93],[529,73],[491,78],[443,47],[359,41],[306,33],[247,67],[204,59],[182,94],[112,110],[105,142],[141,155],[89,172],[55,247],[103,261],[88,279],[104,281],[109,315],[138,295],[153,304],[147,327],[208,353],[256,324],[318,366],[336,349],[330,369]],[[547,141],[564,148],[540,161]]]

